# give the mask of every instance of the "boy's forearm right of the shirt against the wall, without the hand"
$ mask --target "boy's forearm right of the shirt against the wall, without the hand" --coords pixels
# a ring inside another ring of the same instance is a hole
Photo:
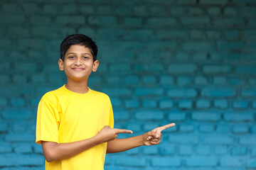
[[[143,135],[107,142],[107,154],[123,152],[144,145]]]

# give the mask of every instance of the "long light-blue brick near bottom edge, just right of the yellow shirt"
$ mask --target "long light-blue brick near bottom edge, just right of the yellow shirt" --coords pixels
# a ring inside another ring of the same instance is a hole
[[[114,162],[118,166],[146,166],[146,159],[138,157],[119,157]]]

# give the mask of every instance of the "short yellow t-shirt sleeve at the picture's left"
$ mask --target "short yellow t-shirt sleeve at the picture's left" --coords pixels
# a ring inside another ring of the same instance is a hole
[[[55,96],[44,95],[38,104],[36,120],[36,143],[58,142],[58,104]]]

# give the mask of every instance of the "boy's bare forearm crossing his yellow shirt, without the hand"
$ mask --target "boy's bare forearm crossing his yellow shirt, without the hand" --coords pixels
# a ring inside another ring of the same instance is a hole
[[[46,157],[46,161],[53,162],[60,159],[67,159],[80,154],[86,149],[90,149],[96,145],[102,143],[98,135],[91,137],[87,140],[80,140],[78,142],[70,143],[55,143],[55,142],[43,142],[43,154]]]

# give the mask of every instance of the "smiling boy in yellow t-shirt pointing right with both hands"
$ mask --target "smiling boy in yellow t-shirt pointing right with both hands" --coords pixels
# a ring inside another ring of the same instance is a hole
[[[110,98],[87,86],[91,72],[99,66],[97,45],[86,35],[69,35],[60,45],[59,68],[67,84],[46,93],[38,104],[36,143],[43,147],[46,169],[104,169],[105,154],[122,152],[142,145],[161,142],[161,130],[116,139]]]

